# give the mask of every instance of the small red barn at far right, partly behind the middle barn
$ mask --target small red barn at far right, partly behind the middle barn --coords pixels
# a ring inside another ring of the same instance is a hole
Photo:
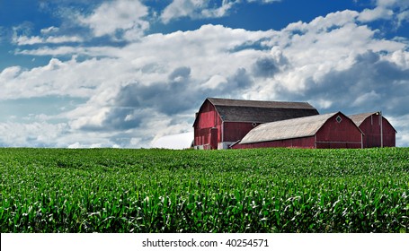
[[[396,146],[396,130],[381,112],[362,113],[350,117],[364,134],[364,148]]]

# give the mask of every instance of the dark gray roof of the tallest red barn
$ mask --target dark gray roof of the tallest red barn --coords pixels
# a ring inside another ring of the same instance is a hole
[[[266,123],[294,117],[317,115],[307,102],[207,99],[225,122]]]

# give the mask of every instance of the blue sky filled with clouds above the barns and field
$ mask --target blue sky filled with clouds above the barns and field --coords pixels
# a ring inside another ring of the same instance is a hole
[[[409,146],[409,0],[0,0],[0,147],[176,147],[208,97],[381,110]]]

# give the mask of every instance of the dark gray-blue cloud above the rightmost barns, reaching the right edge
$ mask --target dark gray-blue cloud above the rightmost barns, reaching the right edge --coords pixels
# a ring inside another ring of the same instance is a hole
[[[355,56],[353,65],[344,70],[331,70],[322,78],[308,78],[303,96],[313,104],[316,100],[331,100],[326,110],[343,108],[346,113],[384,110],[389,116],[409,113],[405,103],[409,91],[409,71],[373,51]],[[319,102],[318,102],[319,104]]]

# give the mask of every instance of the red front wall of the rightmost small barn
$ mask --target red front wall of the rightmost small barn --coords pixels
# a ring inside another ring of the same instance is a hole
[[[372,115],[367,117],[362,124],[360,124],[360,130],[365,134],[363,137],[363,145],[367,147],[380,147],[380,115]],[[394,147],[396,146],[396,132],[394,127],[389,124],[386,118],[382,119],[382,134],[383,134],[383,146]]]

